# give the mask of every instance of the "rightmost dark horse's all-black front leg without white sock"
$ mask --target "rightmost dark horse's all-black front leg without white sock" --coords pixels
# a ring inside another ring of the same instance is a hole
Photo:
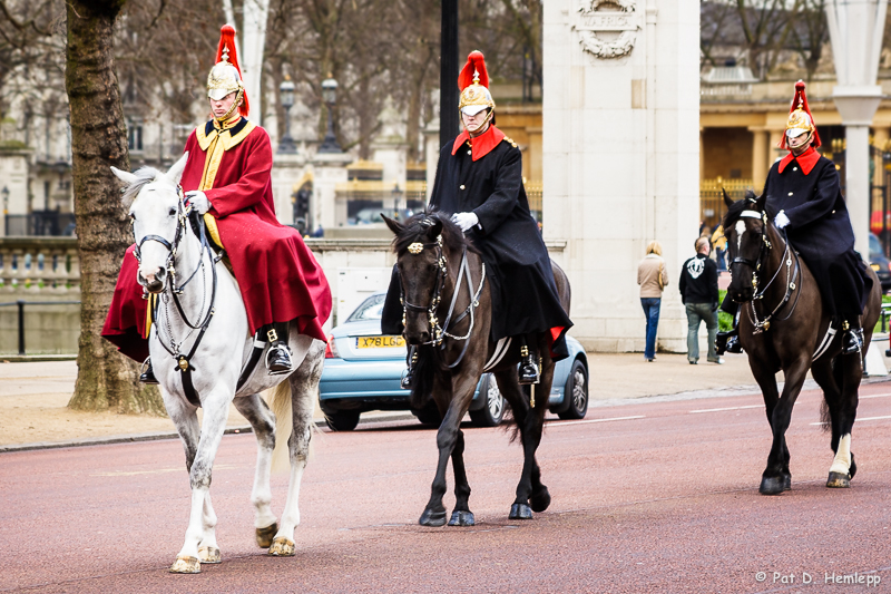
[[[789,448],[786,447],[786,429],[792,420],[792,408],[804,384],[810,367],[810,354],[803,354],[784,370],[785,386],[776,407],[771,415],[771,429],[773,429],[773,445],[767,456],[767,467],[761,477],[762,495],[779,495],[786,490],[786,476],[789,475]],[[791,478],[789,479],[791,481]]]

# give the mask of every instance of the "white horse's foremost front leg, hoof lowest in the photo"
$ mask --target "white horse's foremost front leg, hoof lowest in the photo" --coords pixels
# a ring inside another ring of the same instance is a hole
[[[232,391],[228,391],[232,395]],[[224,390],[215,388],[207,395],[203,402],[204,420],[202,423],[202,437],[198,441],[198,451],[195,461],[189,470],[189,484],[192,486],[192,512],[188,518],[188,528],[183,548],[176,556],[176,561],[170,567],[173,573],[200,573],[200,561],[198,559],[198,545],[204,536],[204,506],[207,495],[210,491],[210,478],[214,468],[214,458],[223,439],[223,431],[226,428],[226,419],[229,413],[231,397],[226,397]]]

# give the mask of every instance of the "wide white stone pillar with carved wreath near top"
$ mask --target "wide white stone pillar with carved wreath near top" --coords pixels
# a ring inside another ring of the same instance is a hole
[[[698,226],[699,2],[620,6],[544,3],[545,236],[567,242],[571,333],[613,352],[644,348],[637,264],[662,242],[659,345],[686,351],[676,283]]]

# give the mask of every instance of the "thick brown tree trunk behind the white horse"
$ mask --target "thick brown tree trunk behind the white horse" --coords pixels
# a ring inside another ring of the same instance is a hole
[[[138,366],[101,338],[124,252],[133,242],[109,166],[129,171],[127,130],[114,71],[115,20],[125,0],[68,0],[65,87],[71,110],[75,217],[81,270],[78,410],[163,413]]]

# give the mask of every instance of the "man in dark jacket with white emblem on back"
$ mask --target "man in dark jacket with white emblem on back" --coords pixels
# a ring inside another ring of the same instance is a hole
[[[712,245],[708,237],[695,243],[696,255],[684,262],[681,270],[681,302],[687,309],[687,360],[699,362],[699,322],[708,330],[708,361],[723,363],[715,352],[717,334],[717,265],[708,257]]]

